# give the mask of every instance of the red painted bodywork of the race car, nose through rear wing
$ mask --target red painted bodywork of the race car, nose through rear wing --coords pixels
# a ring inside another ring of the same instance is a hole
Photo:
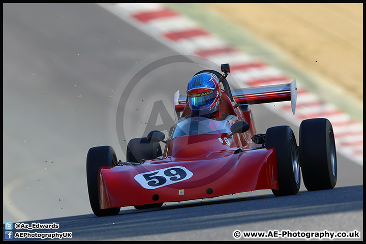
[[[100,208],[278,190],[276,149],[260,147],[252,141],[256,134],[252,111],[247,108],[242,111],[239,105],[293,102],[296,99],[293,89],[296,89],[295,81],[291,85],[237,89],[232,92],[234,102],[223,92],[220,110],[237,115],[236,120],[226,121],[230,124],[247,121],[250,126],[247,132],[232,137],[230,132],[170,137],[161,159],[137,166],[101,167],[98,175]],[[177,115],[182,112],[177,117],[191,113],[185,95],[175,94],[174,106]]]

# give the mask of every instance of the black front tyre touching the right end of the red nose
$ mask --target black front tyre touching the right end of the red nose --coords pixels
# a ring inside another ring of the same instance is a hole
[[[289,126],[268,128],[265,147],[276,149],[279,190],[275,196],[295,195],[300,189],[300,162],[296,138]]]

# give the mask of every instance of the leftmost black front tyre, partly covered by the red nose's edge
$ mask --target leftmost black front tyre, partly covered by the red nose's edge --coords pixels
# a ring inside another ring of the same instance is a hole
[[[120,207],[100,209],[98,193],[98,172],[102,166],[117,164],[117,156],[111,146],[98,146],[89,149],[86,156],[86,180],[90,206],[96,216],[118,215]]]

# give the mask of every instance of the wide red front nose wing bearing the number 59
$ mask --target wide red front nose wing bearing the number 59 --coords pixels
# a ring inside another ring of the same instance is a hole
[[[100,208],[176,202],[261,189],[278,190],[276,150],[257,149],[218,157],[169,157],[138,166],[101,167]]]

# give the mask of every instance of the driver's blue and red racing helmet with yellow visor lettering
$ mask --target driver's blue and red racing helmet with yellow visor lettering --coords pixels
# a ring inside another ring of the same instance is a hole
[[[216,112],[221,99],[219,79],[211,73],[191,78],[187,86],[187,99],[193,116],[208,116]]]

